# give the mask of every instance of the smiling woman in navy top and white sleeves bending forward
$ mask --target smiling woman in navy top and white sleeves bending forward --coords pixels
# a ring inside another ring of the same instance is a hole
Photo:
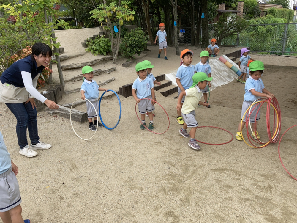
[[[50,109],[59,106],[36,90],[42,70],[50,63],[52,50],[44,43],[35,43],[32,53],[14,62],[0,77],[0,102],[4,102],[17,119],[16,132],[20,154],[33,157],[34,150],[49,149],[50,144],[41,142],[37,130],[37,111],[34,98],[45,103]],[[31,145],[27,141],[27,128]]]

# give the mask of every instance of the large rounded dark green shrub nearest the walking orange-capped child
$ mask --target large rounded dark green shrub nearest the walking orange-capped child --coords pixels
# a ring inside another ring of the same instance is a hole
[[[120,50],[128,58],[132,58],[135,54],[139,56],[146,49],[147,41],[146,35],[138,27],[125,34],[120,45]]]

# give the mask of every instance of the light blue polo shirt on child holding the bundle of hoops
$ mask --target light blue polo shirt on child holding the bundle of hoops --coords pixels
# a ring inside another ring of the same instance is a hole
[[[251,76],[247,78],[247,81],[245,82],[244,87],[244,100],[253,102],[257,100],[258,98],[261,98],[260,96],[255,96],[251,93],[251,90],[255,89],[255,91],[262,93],[262,90],[264,89],[264,84],[261,78],[258,80],[254,80]]]

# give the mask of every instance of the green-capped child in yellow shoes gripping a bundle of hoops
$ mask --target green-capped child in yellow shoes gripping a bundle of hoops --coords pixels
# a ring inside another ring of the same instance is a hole
[[[238,126],[238,131],[236,132],[236,139],[239,141],[242,141],[242,135],[241,135],[241,130],[243,129],[245,122],[246,122],[246,117],[244,116],[244,113],[247,111],[249,106],[257,100],[260,97],[266,97],[266,98],[274,98],[274,95],[271,94],[268,90],[264,88],[264,84],[262,79],[260,78],[263,70],[264,70],[264,64],[261,61],[253,61],[249,64],[249,78],[247,78],[245,87],[244,87],[244,101],[242,103],[242,108],[241,108],[241,122],[239,123]],[[254,107],[259,106],[258,104],[255,104],[252,106],[251,109]],[[252,133],[254,139],[260,139],[260,136],[257,132],[257,125],[258,125],[258,120],[260,119],[260,110],[257,114],[258,108],[255,108],[253,112],[250,114],[249,120],[252,123],[252,128],[254,132]],[[257,114],[257,117],[256,117]],[[247,115],[247,114],[246,114]],[[256,137],[257,135],[257,137]]]

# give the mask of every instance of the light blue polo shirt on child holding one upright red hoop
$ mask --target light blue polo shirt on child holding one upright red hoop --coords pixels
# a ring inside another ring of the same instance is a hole
[[[139,77],[133,82],[132,89],[136,90],[138,99],[147,98],[151,95],[151,89],[154,88],[154,83],[151,78],[146,77],[141,80]]]

